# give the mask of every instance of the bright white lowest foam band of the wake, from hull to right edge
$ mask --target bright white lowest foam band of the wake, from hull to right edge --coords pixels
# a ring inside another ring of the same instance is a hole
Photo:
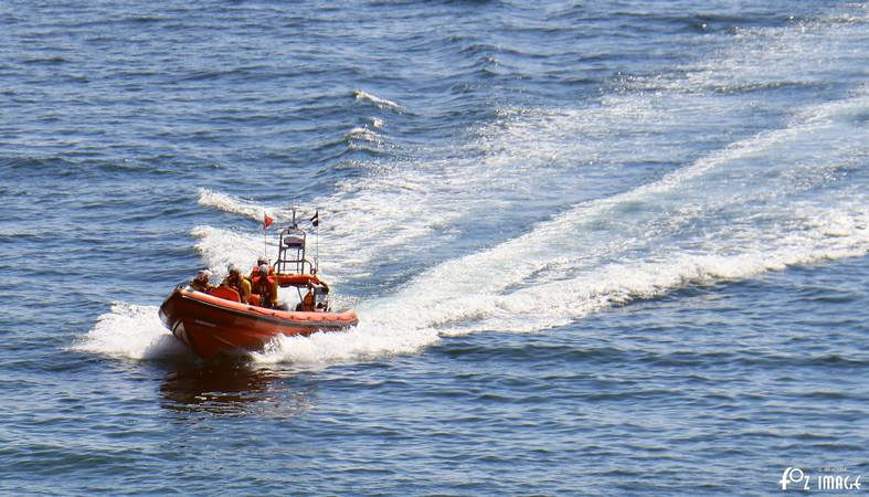
[[[485,279],[465,275],[476,275],[476,264],[459,261],[453,271],[438,266],[398,295],[362,305],[362,322],[351,332],[283,337],[268,351],[253,356],[264,363],[330,363],[411,353],[442,336],[539,331],[688,285],[743,279],[869,252],[869,212],[818,212],[804,221],[804,230],[773,236],[778,240],[774,246],[734,255],[683,253],[661,261],[613,263],[579,277],[502,293],[491,292]]]

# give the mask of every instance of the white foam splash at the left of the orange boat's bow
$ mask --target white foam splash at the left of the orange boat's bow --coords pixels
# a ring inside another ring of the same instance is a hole
[[[191,358],[190,350],[167,330],[156,306],[113,303],[109,313],[73,345],[74,350],[127,359]]]

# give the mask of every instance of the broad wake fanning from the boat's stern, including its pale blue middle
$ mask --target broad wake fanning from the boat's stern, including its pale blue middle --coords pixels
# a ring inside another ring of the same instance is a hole
[[[836,184],[830,170],[867,156],[865,141],[855,139],[866,125],[851,118],[869,112],[869,98],[857,95],[802,109],[802,123],[432,267],[395,295],[363,303],[353,334],[282,340],[257,360],[340,361],[401,353],[443,335],[537,331],[686,285],[862,256],[869,252],[862,189],[801,200]],[[708,232],[682,233],[695,220]]]

